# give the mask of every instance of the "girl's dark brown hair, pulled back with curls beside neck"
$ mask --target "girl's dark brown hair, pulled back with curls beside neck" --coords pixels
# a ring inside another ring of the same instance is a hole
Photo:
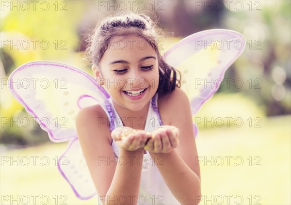
[[[122,16],[109,16],[102,20],[88,36],[89,46],[86,49],[85,58],[91,64],[98,65],[113,37],[138,35],[146,40],[158,55],[159,87],[157,92],[168,93],[175,90],[176,86],[180,87],[180,75],[177,78],[178,71],[168,65],[159,52],[158,37],[163,36],[163,33],[164,31],[157,26],[157,23],[146,15],[129,13]]]

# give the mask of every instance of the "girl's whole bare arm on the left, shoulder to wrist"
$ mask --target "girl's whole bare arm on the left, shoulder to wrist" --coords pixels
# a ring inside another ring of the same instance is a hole
[[[97,106],[80,110],[76,118],[81,148],[97,193],[105,204],[121,204],[124,199],[119,198],[121,195],[126,196],[124,204],[136,204],[142,166],[134,159],[143,156],[143,149],[127,151],[120,148],[119,156],[127,163],[117,163],[108,137],[111,136],[109,126],[100,125],[100,118],[107,119],[107,116]]]

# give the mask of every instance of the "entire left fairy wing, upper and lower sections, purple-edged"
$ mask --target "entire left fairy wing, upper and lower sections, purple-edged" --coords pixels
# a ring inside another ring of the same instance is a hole
[[[94,196],[96,189],[81,151],[75,118],[81,108],[104,104],[109,95],[91,76],[63,63],[26,63],[8,80],[12,95],[48,132],[52,142],[71,141],[59,158],[58,168],[76,196]]]

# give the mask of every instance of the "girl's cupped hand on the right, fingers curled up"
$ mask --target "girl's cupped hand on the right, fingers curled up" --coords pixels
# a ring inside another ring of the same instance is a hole
[[[169,153],[179,145],[179,129],[175,126],[162,126],[152,133],[145,150],[153,153]]]

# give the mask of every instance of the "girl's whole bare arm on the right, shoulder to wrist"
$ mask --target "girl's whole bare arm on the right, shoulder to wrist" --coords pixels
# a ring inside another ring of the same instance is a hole
[[[199,204],[200,168],[199,163],[195,162],[197,150],[188,97],[176,88],[171,95],[159,101],[159,110],[164,125],[179,128],[179,145],[166,154],[150,154],[153,159],[158,159],[159,156],[164,159],[164,166],[157,167],[177,200],[181,204]]]

